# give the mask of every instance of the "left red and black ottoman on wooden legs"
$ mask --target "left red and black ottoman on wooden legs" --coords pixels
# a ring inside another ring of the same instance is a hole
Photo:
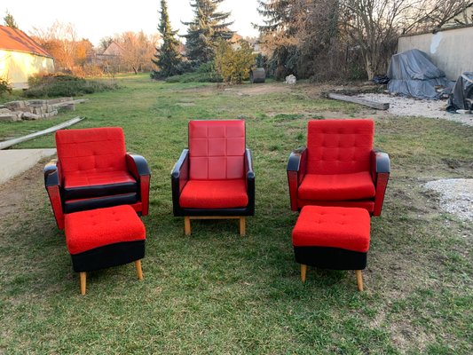
[[[81,275],[85,294],[86,272],[135,262],[138,279],[143,279],[145,225],[129,205],[90,209],[65,216],[67,249],[75,272]]]

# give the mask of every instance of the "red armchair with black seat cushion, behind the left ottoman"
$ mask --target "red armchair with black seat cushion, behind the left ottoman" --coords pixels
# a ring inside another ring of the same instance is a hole
[[[64,215],[128,204],[142,216],[149,207],[150,170],[127,154],[121,128],[58,130],[57,162],[44,167],[44,185],[59,229]]]

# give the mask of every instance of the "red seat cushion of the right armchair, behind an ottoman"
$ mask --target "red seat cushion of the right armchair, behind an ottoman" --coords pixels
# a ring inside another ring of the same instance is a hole
[[[352,174],[306,174],[298,189],[302,200],[346,201],[374,197],[374,183],[368,171]]]

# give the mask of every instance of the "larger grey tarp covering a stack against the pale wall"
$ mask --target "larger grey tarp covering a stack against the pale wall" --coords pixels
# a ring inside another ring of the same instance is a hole
[[[445,73],[419,50],[403,51],[390,59],[388,90],[417,99],[438,99],[436,86],[447,86]]]

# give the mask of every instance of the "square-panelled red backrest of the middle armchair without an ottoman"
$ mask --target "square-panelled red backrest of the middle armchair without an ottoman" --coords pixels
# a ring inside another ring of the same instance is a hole
[[[243,178],[245,122],[190,121],[189,164],[193,180]]]

